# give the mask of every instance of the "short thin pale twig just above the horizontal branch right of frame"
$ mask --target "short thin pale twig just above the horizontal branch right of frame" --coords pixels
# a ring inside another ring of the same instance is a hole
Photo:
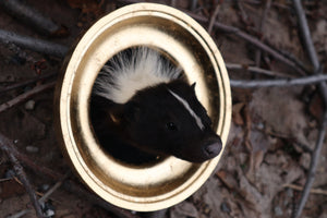
[[[259,73],[259,74],[265,74],[269,76],[278,76],[278,77],[294,77],[293,75],[288,75],[281,72],[277,71],[268,71],[262,68],[256,68],[256,66],[249,66],[249,65],[243,65],[243,64],[238,64],[238,63],[225,63],[227,70],[244,70],[253,73]]]

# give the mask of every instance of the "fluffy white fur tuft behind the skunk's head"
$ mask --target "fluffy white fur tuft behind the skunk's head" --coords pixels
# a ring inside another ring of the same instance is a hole
[[[1,0],[0,0],[1,1]],[[125,104],[137,90],[181,77],[178,66],[168,64],[160,53],[147,47],[122,51],[109,60],[95,82],[94,94],[117,104]]]

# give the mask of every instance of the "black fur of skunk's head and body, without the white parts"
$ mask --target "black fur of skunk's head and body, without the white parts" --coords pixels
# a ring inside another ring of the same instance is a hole
[[[113,157],[130,164],[148,162],[157,156],[169,155],[193,162],[217,156],[221,141],[211,130],[194,85],[183,80],[162,83],[138,90],[126,104],[94,96],[90,117],[100,144]],[[189,102],[201,118],[204,130],[169,89]]]

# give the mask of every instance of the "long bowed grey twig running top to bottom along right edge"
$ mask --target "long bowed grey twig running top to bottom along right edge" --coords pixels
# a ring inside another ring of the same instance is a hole
[[[301,34],[303,36],[302,38],[304,40],[304,47],[307,50],[310,60],[313,64],[314,74],[319,74],[319,73],[323,72],[323,68],[319,63],[318,57],[316,55],[315,47],[314,47],[312,38],[311,38],[311,33],[310,33],[310,29],[308,29],[308,26],[307,26],[305,12],[302,8],[302,4],[301,4],[300,0],[293,0],[293,4],[294,4],[295,12],[296,12],[296,15],[298,15]],[[302,214],[302,210],[305,206],[305,203],[306,203],[308,194],[310,194],[310,190],[311,190],[311,187],[313,185],[313,182],[314,182],[314,179],[315,179],[316,167],[317,167],[317,164],[318,164],[319,154],[320,154],[320,150],[322,150],[322,147],[323,147],[323,144],[324,144],[324,138],[325,138],[325,135],[326,135],[326,126],[327,126],[327,85],[326,85],[325,82],[320,82],[318,87],[319,87],[319,90],[320,90],[320,94],[322,94],[322,97],[323,97],[323,100],[324,100],[325,111],[324,111],[320,128],[319,128],[318,138],[316,141],[315,148],[312,153],[310,169],[308,169],[308,173],[307,173],[307,180],[305,182],[304,190],[303,190],[300,203],[299,203],[298,207],[295,207],[295,209],[292,214],[292,218],[300,217],[300,215]]]

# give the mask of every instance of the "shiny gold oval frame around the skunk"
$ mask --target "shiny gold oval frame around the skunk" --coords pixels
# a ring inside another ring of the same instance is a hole
[[[193,194],[215,170],[220,155],[203,164],[174,157],[150,166],[117,161],[99,146],[89,121],[92,86],[104,64],[133,46],[165,52],[184,70],[213,119],[223,148],[231,121],[231,94],[225,63],[206,31],[183,12],[156,3],[121,8],[95,23],[80,40],[58,81],[56,128],[60,144],[82,181],[107,202],[153,211]]]

